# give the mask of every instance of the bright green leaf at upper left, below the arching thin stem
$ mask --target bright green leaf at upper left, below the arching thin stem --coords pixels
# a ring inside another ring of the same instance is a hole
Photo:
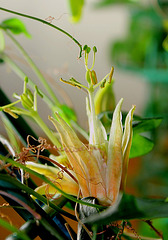
[[[18,18],[9,18],[0,24],[0,28],[4,30],[10,30],[13,34],[24,33],[26,37],[30,38],[24,23]]]

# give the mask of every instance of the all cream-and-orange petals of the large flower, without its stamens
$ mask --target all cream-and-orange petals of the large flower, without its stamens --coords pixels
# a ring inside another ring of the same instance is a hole
[[[59,177],[60,169],[37,163],[27,163],[27,167],[44,174],[61,190],[74,196],[97,198],[105,206],[113,205],[124,190],[127,178],[129,153],[132,143],[132,119],[135,106],[132,106],[122,126],[123,99],[117,104],[110,128],[109,138],[98,117],[88,107],[89,144],[84,144],[75,131],[56,113],[56,119],[49,117],[58,131],[66,167],[74,176],[66,172]],[[44,184],[36,189],[40,194],[54,194],[55,188]]]

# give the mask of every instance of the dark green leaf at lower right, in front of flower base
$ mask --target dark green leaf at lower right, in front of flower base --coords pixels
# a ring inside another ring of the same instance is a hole
[[[154,219],[168,217],[168,202],[164,199],[143,199],[123,194],[115,205],[99,214],[88,217],[84,223],[107,225],[113,221],[129,219]]]

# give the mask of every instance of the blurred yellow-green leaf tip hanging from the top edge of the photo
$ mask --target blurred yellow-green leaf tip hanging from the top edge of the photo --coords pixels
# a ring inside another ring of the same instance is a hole
[[[68,1],[72,15],[71,20],[72,22],[78,22],[82,15],[84,0],[68,0]]]

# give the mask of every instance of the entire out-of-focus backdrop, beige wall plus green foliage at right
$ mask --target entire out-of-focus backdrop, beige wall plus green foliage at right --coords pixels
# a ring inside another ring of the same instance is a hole
[[[114,66],[116,102],[124,98],[123,110],[128,111],[135,104],[136,115],[163,117],[161,126],[152,132],[153,151],[131,161],[128,192],[165,198],[168,196],[168,3],[162,0],[88,0],[83,4],[81,16],[76,17],[79,21],[72,23],[72,2],[1,0],[0,7],[46,20],[52,17],[54,25],[69,32],[82,45],[95,45],[98,53],[94,69],[98,79],[101,80]],[[16,16],[0,11],[0,22],[10,17]],[[63,96],[73,106],[79,123],[87,129],[85,93],[59,81],[60,77],[66,80],[74,77],[85,82],[83,59],[78,58],[79,48],[65,35],[46,25],[26,18],[21,20],[32,38],[19,35],[17,40],[51,82],[56,95],[60,99]],[[43,89],[8,38],[6,52]],[[13,92],[22,93],[23,82],[6,64],[0,66],[0,84],[11,100]],[[50,126],[50,112],[40,99],[38,108]],[[29,123],[36,133],[40,133],[38,126]],[[2,125],[0,133],[5,134]],[[155,220],[154,224],[167,236],[168,219]],[[151,237],[149,227],[140,224],[139,228],[142,234],[149,233]],[[154,233],[153,237],[156,237]]]

